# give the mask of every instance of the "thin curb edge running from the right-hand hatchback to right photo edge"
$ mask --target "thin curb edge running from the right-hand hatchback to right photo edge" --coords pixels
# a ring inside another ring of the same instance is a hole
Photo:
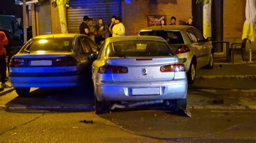
[[[200,75],[197,78],[256,78],[256,75]]]

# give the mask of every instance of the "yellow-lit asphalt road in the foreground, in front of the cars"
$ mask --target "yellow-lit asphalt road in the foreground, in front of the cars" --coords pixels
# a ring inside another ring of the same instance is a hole
[[[0,142],[255,142],[256,111],[0,111]],[[80,123],[92,120],[95,123]]]

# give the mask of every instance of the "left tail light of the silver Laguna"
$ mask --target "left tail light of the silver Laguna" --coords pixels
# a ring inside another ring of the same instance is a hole
[[[99,68],[99,74],[127,74],[128,68],[123,66],[105,65]]]

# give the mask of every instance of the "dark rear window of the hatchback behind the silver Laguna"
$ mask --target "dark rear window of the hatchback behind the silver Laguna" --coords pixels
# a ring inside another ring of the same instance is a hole
[[[139,35],[154,35],[164,38],[169,44],[184,44],[180,31],[142,31]]]

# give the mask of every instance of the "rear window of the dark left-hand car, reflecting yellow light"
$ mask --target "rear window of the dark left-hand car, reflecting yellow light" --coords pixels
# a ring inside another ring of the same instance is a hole
[[[30,53],[52,53],[52,52],[71,52],[73,38],[43,38],[32,39],[30,44],[25,47],[23,52]]]

